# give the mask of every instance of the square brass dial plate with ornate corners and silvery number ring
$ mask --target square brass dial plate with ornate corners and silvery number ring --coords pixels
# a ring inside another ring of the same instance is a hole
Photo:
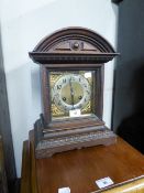
[[[91,72],[51,73],[52,118],[69,117],[70,110],[90,114],[91,95]]]

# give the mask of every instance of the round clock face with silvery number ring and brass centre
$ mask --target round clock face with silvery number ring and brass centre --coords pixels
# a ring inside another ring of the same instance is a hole
[[[62,76],[54,85],[53,100],[58,108],[69,111],[84,108],[90,99],[90,85],[79,74]]]

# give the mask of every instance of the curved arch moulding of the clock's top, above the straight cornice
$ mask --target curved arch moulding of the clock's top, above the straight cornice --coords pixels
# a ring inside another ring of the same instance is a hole
[[[34,49],[34,52],[48,52],[52,51],[52,47],[55,47],[56,45],[64,45],[64,42],[67,44],[65,45],[67,49],[71,49],[70,45],[68,47],[68,43],[75,42],[75,41],[81,41],[84,43],[82,47],[87,51],[95,47],[95,50],[99,50],[100,52],[107,52],[107,53],[114,53],[113,47],[110,45],[110,43],[103,39],[98,33],[84,29],[84,28],[67,28],[59,30],[45,39],[43,39]],[[89,45],[89,46],[88,46]],[[63,47],[62,47],[63,49]]]

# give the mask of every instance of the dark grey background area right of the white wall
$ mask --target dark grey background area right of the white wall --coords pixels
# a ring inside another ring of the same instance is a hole
[[[144,0],[119,3],[112,128],[144,152]]]

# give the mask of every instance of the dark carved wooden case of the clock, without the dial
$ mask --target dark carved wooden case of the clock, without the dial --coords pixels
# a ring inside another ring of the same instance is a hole
[[[104,63],[118,53],[101,35],[84,28],[67,28],[43,39],[30,52],[41,66],[43,114],[34,125],[36,158],[56,152],[115,142],[117,136],[102,121]],[[51,115],[51,71],[96,71],[95,117],[53,121]]]

